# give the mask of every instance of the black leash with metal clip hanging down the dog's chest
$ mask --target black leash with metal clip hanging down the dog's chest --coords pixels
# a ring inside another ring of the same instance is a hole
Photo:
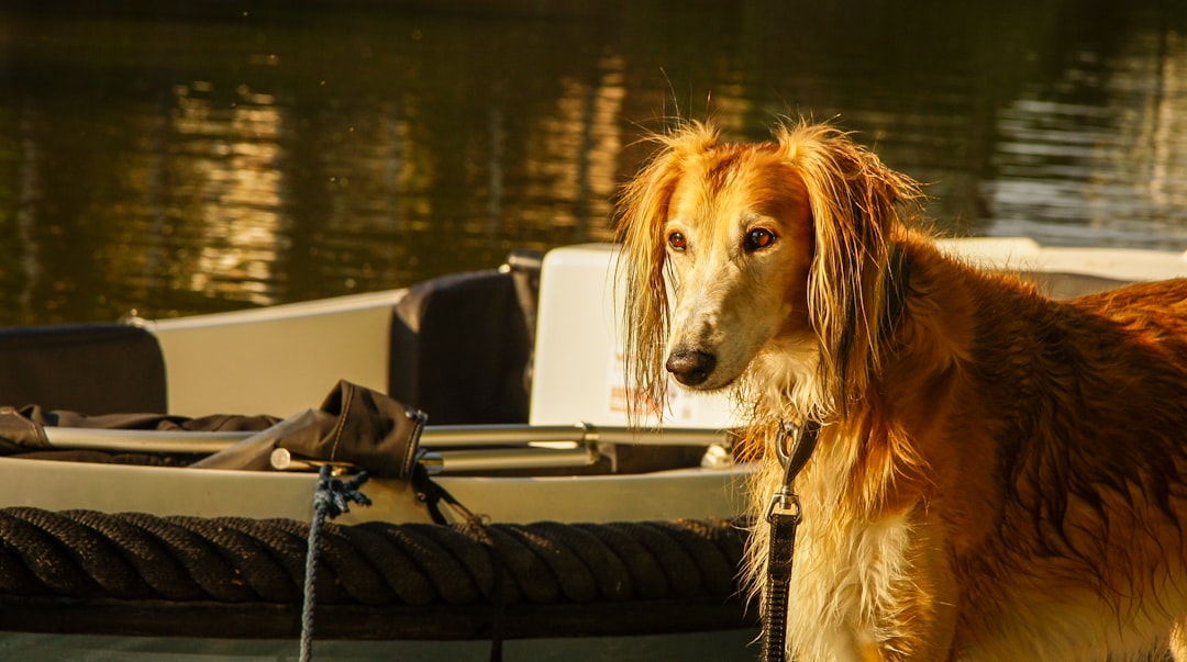
[[[820,424],[807,421],[802,427],[782,424],[782,439],[775,454],[783,465],[783,483],[770,496],[767,523],[770,548],[767,555],[767,590],[763,592],[762,657],[763,662],[787,660],[787,603],[792,584],[792,556],[795,553],[795,529],[800,524],[800,497],[792,484],[820,437]]]

